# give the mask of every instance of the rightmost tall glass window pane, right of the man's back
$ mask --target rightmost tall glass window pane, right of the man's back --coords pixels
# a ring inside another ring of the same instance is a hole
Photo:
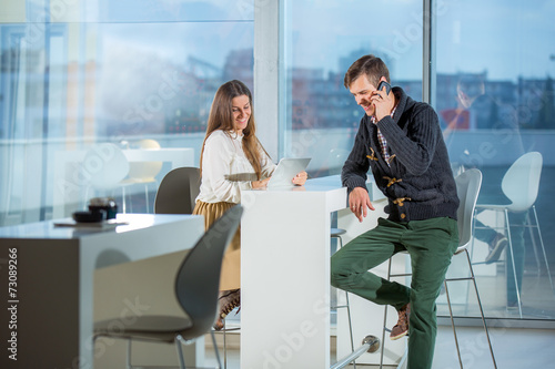
[[[515,198],[528,203],[508,214],[511,237],[503,229],[503,213],[483,211],[477,217],[472,256],[486,315],[553,319],[549,270],[555,267],[551,246],[555,227],[549,204],[555,201],[555,24],[547,14],[555,7],[553,1],[531,7],[514,0],[436,4],[441,11],[435,34],[435,107],[453,168],[482,171],[478,204],[511,204]],[[543,156],[535,201],[542,238],[536,228],[528,227],[536,222],[529,207],[535,197],[525,188],[534,184],[522,175],[504,180],[509,166],[529,152]],[[507,197],[512,188],[517,194],[513,198]],[[467,296],[456,314],[477,312],[468,310],[474,297]]]

